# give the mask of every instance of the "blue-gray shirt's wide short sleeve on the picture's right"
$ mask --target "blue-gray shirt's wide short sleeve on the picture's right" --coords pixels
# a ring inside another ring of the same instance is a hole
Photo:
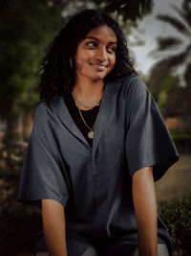
[[[146,84],[134,80],[125,141],[128,169],[133,177],[139,169],[154,166],[156,181],[179,160],[179,152]]]

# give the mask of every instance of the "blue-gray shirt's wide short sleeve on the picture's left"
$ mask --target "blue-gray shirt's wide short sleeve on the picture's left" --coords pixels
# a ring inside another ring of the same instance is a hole
[[[41,199],[50,198],[65,207],[69,198],[66,168],[58,157],[55,143],[50,141],[53,131],[49,128],[48,121],[45,104],[37,105],[20,174],[17,199],[41,208]]]

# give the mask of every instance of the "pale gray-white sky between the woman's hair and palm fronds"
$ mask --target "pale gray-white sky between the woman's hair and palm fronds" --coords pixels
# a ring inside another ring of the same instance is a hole
[[[148,74],[150,67],[154,64],[156,60],[159,58],[152,58],[148,54],[152,50],[157,48],[157,36],[166,37],[167,35],[175,35],[176,37],[180,37],[180,33],[178,33],[170,24],[159,21],[156,19],[157,14],[168,14],[171,16],[177,16],[180,19],[180,16],[177,12],[175,12],[169,4],[174,4],[177,7],[181,6],[182,0],[155,0],[155,6],[153,9],[153,13],[145,16],[145,18],[138,22],[138,30],[142,32],[137,33],[137,30],[134,30],[134,34],[129,37],[130,41],[135,41],[134,36],[138,35],[145,41],[145,45],[133,47],[130,46],[130,50],[133,51],[132,56],[136,60],[136,68],[137,70],[141,70],[141,72],[145,75]],[[184,44],[186,44],[185,38],[183,38]],[[168,54],[173,53],[173,51],[168,52]],[[166,56],[163,55],[163,56]]]

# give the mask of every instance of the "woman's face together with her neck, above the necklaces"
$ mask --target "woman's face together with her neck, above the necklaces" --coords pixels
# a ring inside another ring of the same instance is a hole
[[[74,55],[74,97],[80,103],[97,102],[103,94],[103,79],[114,69],[117,35],[107,25],[91,30],[82,40]],[[89,109],[83,107],[81,109]]]

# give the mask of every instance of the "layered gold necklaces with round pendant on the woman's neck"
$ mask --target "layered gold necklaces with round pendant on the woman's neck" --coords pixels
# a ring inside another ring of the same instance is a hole
[[[77,106],[77,109],[78,109],[78,111],[79,111],[80,117],[81,117],[81,119],[82,119],[84,125],[85,125],[87,128],[90,129],[90,131],[88,132],[88,137],[89,137],[90,139],[93,139],[93,138],[94,138],[94,128],[95,128],[95,125],[96,125],[96,121],[95,121],[95,124],[94,124],[93,128],[90,128],[90,127],[87,125],[86,121],[84,120],[84,117],[83,117],[83,115],[82,115],[81,109],[80,109],[79,107],[91,109],[91,108],[95,107],[96,105],[100,105],[101,96],[98,97],[98,100],[97,100],[96,102],[94,102],[94,103],[92,103],[92,104],[90,104],[90,105],[85,105],[85,104],[81,103],[80,101],[78,101],[78,100],[76,99],[76,96],[75,96],[75,94],[74,94],[74,91],[72,91],[72,95],[73,95],[74,103],[75,103],[75,105]],[[98,112],[99,112],[99,111],[98,111]],[[98,112],[97,112],[97,115],[96,115],[96,120],[97,120]]]

